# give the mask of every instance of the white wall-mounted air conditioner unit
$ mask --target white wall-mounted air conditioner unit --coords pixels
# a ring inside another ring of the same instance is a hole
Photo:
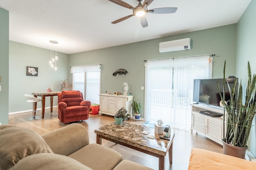
[[[159,43],[160,53],[190,49],[190,38]]]

